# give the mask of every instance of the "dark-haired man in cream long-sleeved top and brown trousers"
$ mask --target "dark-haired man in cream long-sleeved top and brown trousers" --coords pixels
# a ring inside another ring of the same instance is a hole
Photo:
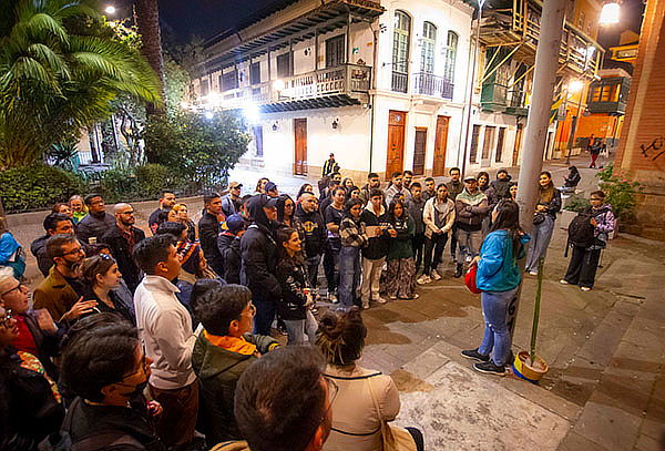
[[[145,273],[134,294],[136,326],[145,356],[153,361],[150,392],[164,408],[157,417],[157,432],[166,447],[186,450],[198,412],[198,380],[192,369],[196,337],[192,317],[171,283],[181,270],[173,236],[145,238],[134,248],[134,258]]]

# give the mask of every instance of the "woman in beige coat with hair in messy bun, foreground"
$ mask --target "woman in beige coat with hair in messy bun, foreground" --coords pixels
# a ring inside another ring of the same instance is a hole
[[[338,387],[324,451],[380,451],[382,423],[399,413],[399,391],[392,378],[356,365],[366,337],[358,307],[328,310],[320,319],[316,345],[328,362],[324,377]],[[422,450],[422,433],[407,430],[416,449]]]

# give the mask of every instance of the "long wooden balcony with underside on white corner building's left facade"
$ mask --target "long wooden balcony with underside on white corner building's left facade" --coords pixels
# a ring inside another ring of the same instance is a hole
[[[340,64],[225,91],[218,104],[208,96],[198,106],[236,110],[254,103],[263,112],[278,112],[357,105],[366,101],[370,82],[370,66]]]

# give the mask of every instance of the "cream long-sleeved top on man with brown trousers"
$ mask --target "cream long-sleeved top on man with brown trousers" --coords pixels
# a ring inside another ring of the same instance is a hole
[[[196,380],[192,350],[196,336],[192,317],[175,296],[180,290],[161,276],[145,276],[134,294],[136,325],[145,355],[154,360],[150,385],[173,390]]]

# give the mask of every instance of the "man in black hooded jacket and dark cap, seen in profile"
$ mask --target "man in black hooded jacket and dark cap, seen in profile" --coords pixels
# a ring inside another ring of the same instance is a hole
[[[282,287],[275,277],[278,250],[275,239],[276,205],[277,199],[266,194],[252,197],[247,208],[254,222],[241,238],[241,284],[252,290],[256,306],[254,332],[258,335],[270,335],[275,303],[282,298]]]

